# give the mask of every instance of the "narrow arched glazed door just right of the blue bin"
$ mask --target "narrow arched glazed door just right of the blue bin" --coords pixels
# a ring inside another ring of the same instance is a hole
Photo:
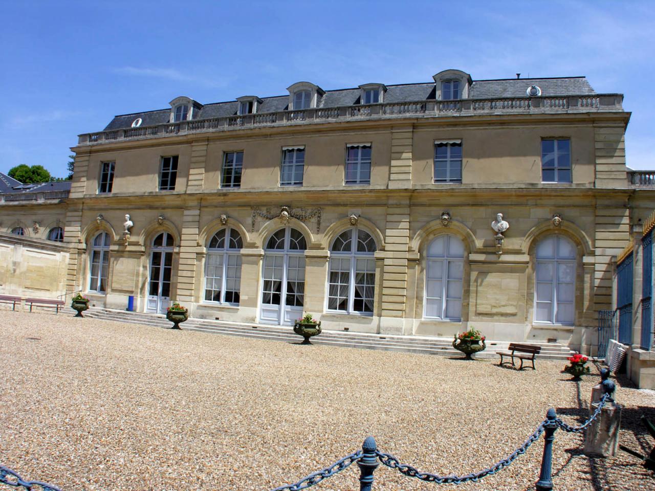
[[[170,304],[173,245],[173,236],[168,232],[160,233],[153,240],[148,277],[148,312],[166,314],[166,308]]]

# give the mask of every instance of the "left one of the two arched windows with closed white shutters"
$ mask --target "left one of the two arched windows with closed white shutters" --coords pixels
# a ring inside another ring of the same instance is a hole
[[[452,235],[435,238],[426,253],[424,317],[462,318],[464,244]]]

